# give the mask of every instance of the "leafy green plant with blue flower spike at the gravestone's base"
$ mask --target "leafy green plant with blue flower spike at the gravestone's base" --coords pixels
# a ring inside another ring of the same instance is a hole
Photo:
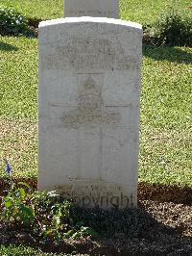
[[[5,171],[10,188],[0,205],[2,219],[8,225],[16,225],[46,240],[60,243],[65,238],[80,239],[99,234],[85,222],[75,220],[71,201],[60,198],[56,192],[33,192],[24,182],[15,183],[12,167],[6,162]]]

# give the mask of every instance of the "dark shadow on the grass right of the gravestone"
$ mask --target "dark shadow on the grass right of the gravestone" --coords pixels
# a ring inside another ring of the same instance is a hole
[[[192,64],[192,53],[183,48],[169,46],[143,46],[143,55],[156,61],[178,64]]]

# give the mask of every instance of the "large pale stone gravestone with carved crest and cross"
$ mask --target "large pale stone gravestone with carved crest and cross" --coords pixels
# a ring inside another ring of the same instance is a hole
[[[136,207],[141,45],[132,22],[40,23],[39,190],[83,207]]]

